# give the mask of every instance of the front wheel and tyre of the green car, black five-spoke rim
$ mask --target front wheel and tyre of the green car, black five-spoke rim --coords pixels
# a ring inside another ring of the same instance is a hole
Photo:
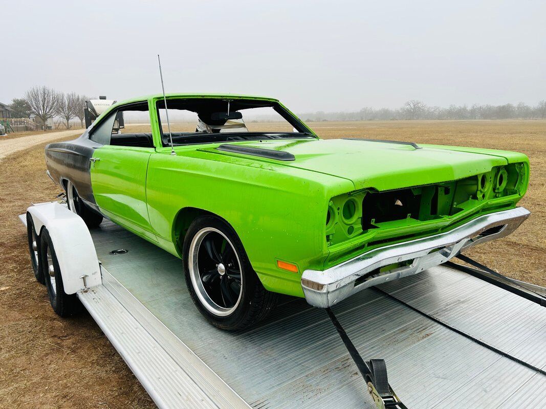
[[[184,239],[183,259],[193,302],[214,326],[247,328],[275,307],[277,294],[265,290],[241,240],[223,220],[194,220]]]

